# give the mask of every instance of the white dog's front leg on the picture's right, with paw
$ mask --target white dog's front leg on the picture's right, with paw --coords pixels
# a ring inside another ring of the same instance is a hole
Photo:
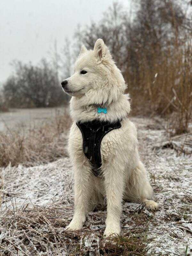
[[[107,198],[107,219],[104,236],[119,235],[122,198],[124,191],[124,168],[114,161],[103,172]]]

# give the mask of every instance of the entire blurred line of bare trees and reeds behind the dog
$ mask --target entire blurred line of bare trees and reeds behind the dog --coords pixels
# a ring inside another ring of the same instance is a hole
[[[46,60],[38,66],[15,62],[15,74],[4,84],[5,101],[11,107],[67,101],[60,77],[71,75],[82,44],[92,49],[102,38],[123,72],[135,109],[162,115],[176,110],[187,122],[192,112],[191,5],[187,0],[137,0],[128,11],[114,2],[99,22],[78,25],[72,46],[68,39],[60,53],[55,46],[52,65]]]

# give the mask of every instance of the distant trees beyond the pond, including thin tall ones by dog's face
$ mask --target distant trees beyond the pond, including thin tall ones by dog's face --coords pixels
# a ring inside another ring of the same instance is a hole
[[[68,40],[65,44],[69,47]],[[65,62],[70,52],[67,48],[59,54],[56,48],[55,42],[51,59],[44,58],[37,65],[18,60],[12,62],[13,74],[0,92],[0,110],[56,107],[68,102],[70,97],[62,91],[60,82],[61,76],[70,76],[69,65]]]

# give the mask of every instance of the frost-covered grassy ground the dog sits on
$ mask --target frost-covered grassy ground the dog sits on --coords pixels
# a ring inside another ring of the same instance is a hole
[[[175,138],[178,147],[172,148],[161,122],[132,120],[159,210],[123,203],[121,236],[113,239],[102,236],[106,209],[89,212],[82,230],[65,231],[74,202],[69,158],[33,167],[9,165],[1,169],[0,255],[192,254],[192,162],[190,154],[179,152],[190,134]]]

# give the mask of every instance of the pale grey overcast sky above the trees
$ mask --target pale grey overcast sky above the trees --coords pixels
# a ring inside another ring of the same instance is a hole
[[[12,60],[36,64],[58,49],[77,24],[100,20],[113,0],[0,0],[0,82],[11,74]],[[119,0],[129,8],[131,0]]]

